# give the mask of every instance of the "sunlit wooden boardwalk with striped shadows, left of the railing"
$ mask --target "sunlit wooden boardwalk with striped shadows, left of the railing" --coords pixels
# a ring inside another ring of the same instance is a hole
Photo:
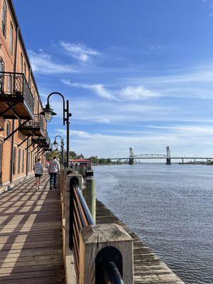
[[[59,190],[34,180],[0,195],[0,284],[64,283]]]

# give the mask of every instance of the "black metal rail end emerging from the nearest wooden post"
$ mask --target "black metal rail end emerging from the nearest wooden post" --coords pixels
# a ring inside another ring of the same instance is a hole
[[[113,261],[106,263],[102,270],[104,274],[104,284],[124,284],[124,280]]]

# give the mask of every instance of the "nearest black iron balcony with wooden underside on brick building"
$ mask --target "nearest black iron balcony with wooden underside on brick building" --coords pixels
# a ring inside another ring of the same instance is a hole
[[[0,116],[34,119],[34,99],[23,73],[0,72]]]

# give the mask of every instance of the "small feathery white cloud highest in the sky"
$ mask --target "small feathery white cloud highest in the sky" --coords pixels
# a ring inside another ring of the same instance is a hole
[[[86,63],[100,54],[97,50],[88,48],[82,43],[67,43],[65,41],[60,41],[60,45],[72,58],[75,58],[82,63]]]

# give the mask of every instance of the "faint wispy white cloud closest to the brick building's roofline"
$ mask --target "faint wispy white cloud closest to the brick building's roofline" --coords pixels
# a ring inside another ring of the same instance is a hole
[[[43,50],[39,50],[39,53],[29,50],[28,54],[31,59],[33,72],[47,75],[77,72],[77,68],[73,65],[65,65],[60,62],[53,62],[50,55],[44,53]]]

